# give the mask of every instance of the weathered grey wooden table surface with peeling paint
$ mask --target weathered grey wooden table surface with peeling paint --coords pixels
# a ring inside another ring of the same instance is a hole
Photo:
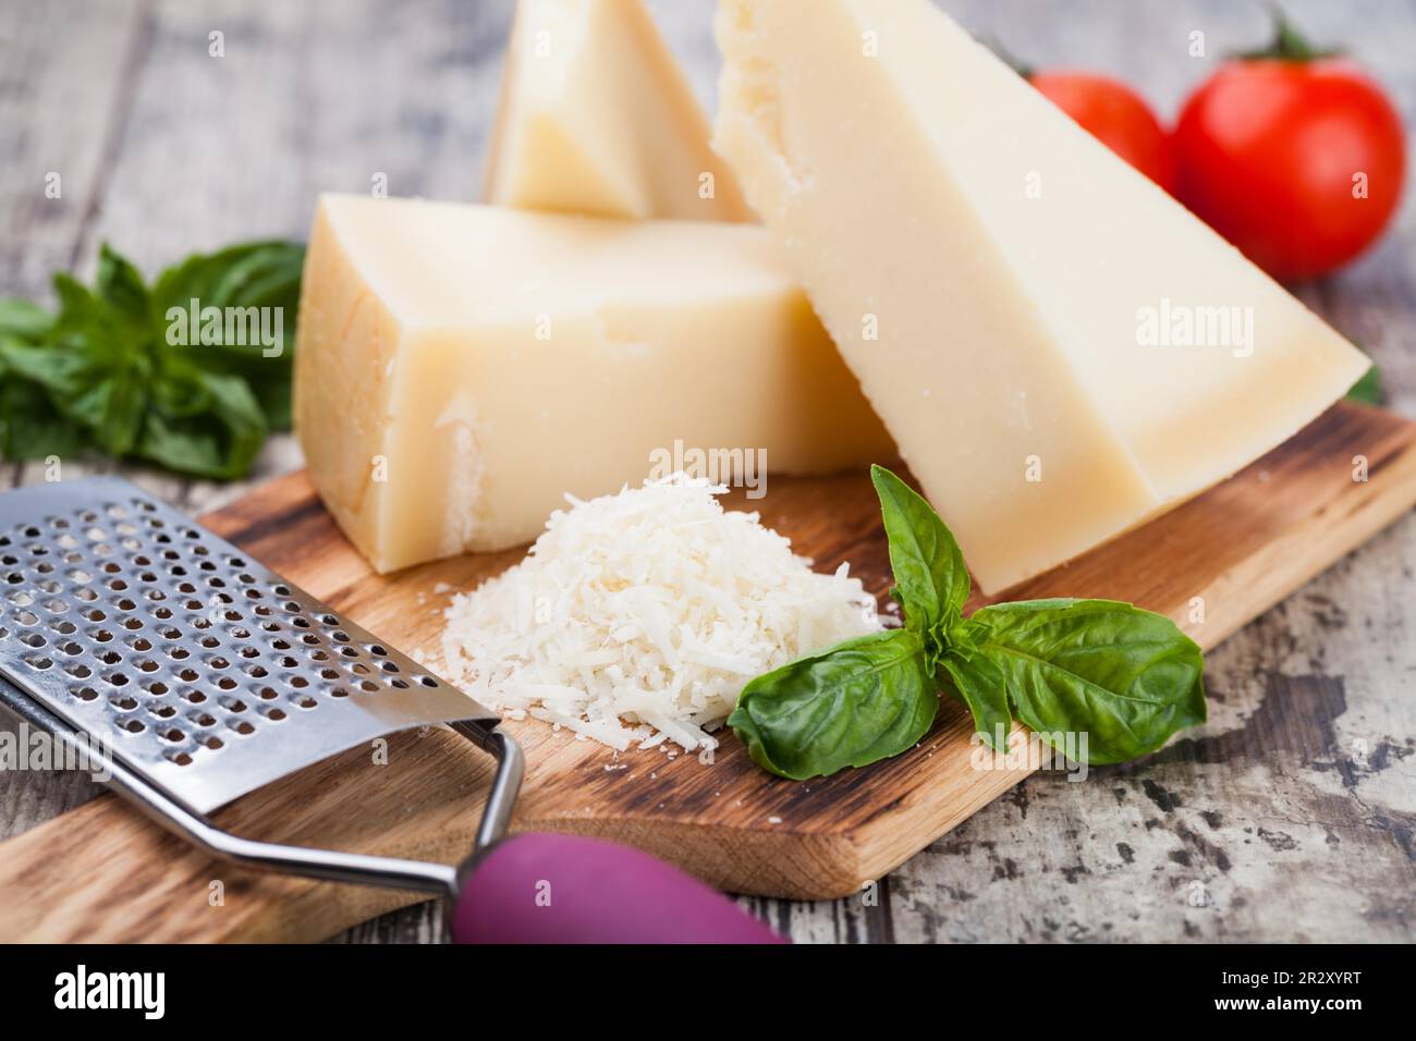
[[[650,0],[705,105],[711,0]],[[946,0],[1038,65],[1117,74],[1170,119],[1218,57],[1266,41],[1235,0]],[[1287,0],[1416,126],[1416,0]],[[316,193],[473,200],[510,0],[47,0],[0,7],[0,296],[48,302],[102,241],[146,272],[258,235],[303,238]],[[224,34],[224,57],[208,54]],[[1206,57],[1189,57],[1191,33]],[[1416,164],[1413,164],[1416,166]],[[45,178],[61,176],[59,198]],[[1416,170],[1412,171],[1416,181]],[[1416,193],[1398,225],[1303,297],[1416,418]],[[251,482],[122,469],[190,511],[300,465],[275,439]],[[42,480],[7,465],[0,486]],[[1416,520],[1406,517],[1209,656],[1211,722],[1161,753],[1039,773],[867,898],[746,901],[800,942],[1403,940],[1416,938]],[[0,773],[0,837],[98,793]],[[0,894],[3,898],[3,894]],[[432,940],[430,905],[348,942]]]

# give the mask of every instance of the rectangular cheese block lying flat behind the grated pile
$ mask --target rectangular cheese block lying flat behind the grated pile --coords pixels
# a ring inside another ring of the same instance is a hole
[[[527,542],[695,452],[725,480],[893,453],[762,228],[351,195],[310,234],[295,418],[379,571]]]

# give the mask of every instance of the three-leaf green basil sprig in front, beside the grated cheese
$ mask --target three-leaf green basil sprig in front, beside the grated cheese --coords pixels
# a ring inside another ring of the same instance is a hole
[[[759,676],[728,717],[753,761],[793,780],[899,755],[935,721],[937,690],[990,746],[1014,718],[1089,763],[1154,752],[1205,721],[1204,654],[1168,618],[1117,601],[995,603],[964,618],[971,586],[939,514],[871,467],[905,626]],[[1000,748],[1000,751],[1004,751]]]

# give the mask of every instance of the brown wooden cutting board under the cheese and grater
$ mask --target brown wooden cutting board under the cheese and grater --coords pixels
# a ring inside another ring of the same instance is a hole
[[[1232,480],[1008,599],[1133,601],[1214,647],[1416,504],[1413,446],[1416,423],[1340,404]],[[889,568],[867,474],[773,477],[765,499],[729,500],[760,510],[820,569],[850,561],[884,598]],[[442,584],[472,588],[521,557],[374,575],[303,474],[204,521],[411,652],[438,644]],[[528,762],[517,829],[603,836],[728,891],[796,899],[858,891],[1028,773],[974,769],[971,727],[952,701],[913,751],[800,785],[756,769],[731,735],[709,765],[663,749],[615,755],[535,721],[508,727]],[[470,848],[489,765],[443,731],[405,734],[388,765],[353,749],[217,820],[252,837],[455,861]],[[0,894],[6,940],[314,940],[419,899],[234,870],[106,795],[0,844]]]

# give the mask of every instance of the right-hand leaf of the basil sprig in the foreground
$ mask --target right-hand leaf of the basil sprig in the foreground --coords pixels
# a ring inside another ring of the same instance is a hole
[[[1003,673],[1017,712],[1055,734],[1086,734],[1086,761],[1154,752],[1205,721],[1204,656],[1168,618],[1116,601],[1024,601],[974,612],[977,650]]]

